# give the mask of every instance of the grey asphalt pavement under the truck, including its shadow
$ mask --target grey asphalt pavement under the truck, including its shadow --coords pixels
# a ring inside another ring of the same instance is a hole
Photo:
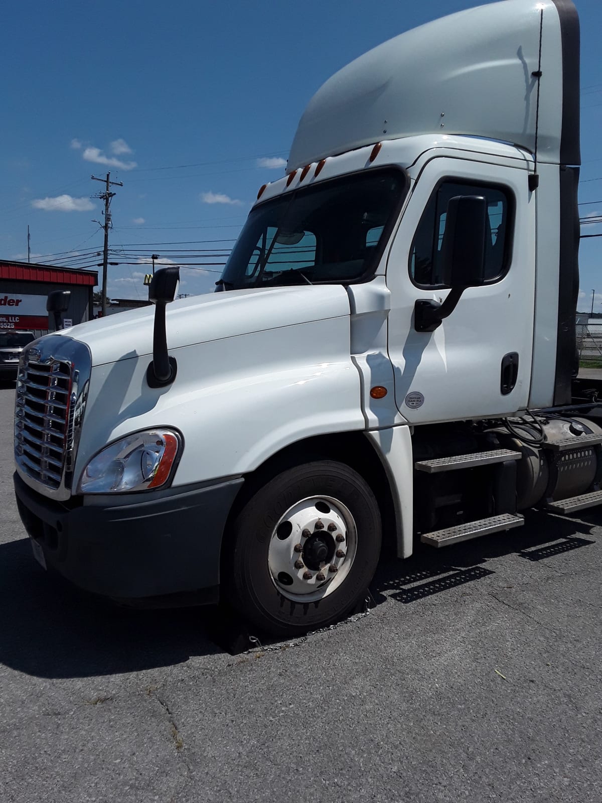
[[[0,389],[0,800],[600,801],[600,513],[411,560],[376,605],[232,656],[213,609],[129,611],[48,577]]]

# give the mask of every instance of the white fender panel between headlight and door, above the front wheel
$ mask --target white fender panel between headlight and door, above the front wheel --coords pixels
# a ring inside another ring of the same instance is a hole
[[[349,340],[347,315],[186,346],[170,352],[177,378],[163,389],[146,384],[148,357],[96,365],[75,477],[109,442],[153,426],[184,438],[174,486],[246,474],[303,438],[364,430]]]

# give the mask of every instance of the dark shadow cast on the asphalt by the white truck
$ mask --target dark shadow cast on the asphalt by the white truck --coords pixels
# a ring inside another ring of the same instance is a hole
[[[523,531],[441,552],[418,548],[405,561],[384,557],[372,594],[376,605],[386,600],[411,604],[490,576],[496,557],[518,553],[525,560],[545,560],[593,544],[576,535],[590,535],[593,526],[535,516]],[[228,625],[215,608],[132,610],[79,593],[35,564],[27,539],[0,545],[0,605],[0,662],[40,678],[173,666],[193,655],[223,654],[230,638],[222,634]],[[233,651],[246,646],[251,646],[248,636],[239,634]]]

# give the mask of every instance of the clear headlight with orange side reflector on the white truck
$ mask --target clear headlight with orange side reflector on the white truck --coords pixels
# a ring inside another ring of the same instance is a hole
[[[165,485],[181,448],[170,430],[135,432],[106,446],[92,458],[79,480],[83,494],[146,491]]]

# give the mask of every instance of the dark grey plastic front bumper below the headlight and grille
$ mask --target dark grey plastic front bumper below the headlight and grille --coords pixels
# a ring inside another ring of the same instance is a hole
[[[145,494],[87,497],[70,507],[14,490],[47,565],[86,591],[121,601],[216,602],[226,519],[242,478]]]

